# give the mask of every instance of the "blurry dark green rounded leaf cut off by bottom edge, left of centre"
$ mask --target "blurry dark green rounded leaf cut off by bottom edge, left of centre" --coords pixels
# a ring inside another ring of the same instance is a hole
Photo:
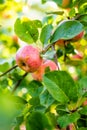
[[[27,130],[52,130],[52,126],[45,114],[33,112],[26,121]]]

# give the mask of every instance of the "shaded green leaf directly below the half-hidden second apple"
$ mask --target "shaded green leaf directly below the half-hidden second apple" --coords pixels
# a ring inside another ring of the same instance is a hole
[[[36,81],[36,80],[33,80],[29,83],[28,85],[28,93],[32,96],[32,97],[37,97],[39,96],[39,94],[42,92],[43,90],[43,85]]]

